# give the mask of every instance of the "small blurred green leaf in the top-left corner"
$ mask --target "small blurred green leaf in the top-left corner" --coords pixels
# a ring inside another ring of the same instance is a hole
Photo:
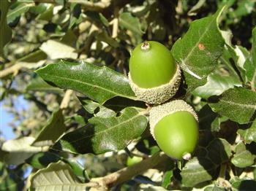
[[[29,10],[29,7],[34,7],[34,3],[26,4],[26,3],[16,3],[17,7],[14,9],[10,9],[10,11],[7,14],[7,23],[12,23],[13,20],[15,20],[16,17],[20,17],[21,14],[27,12]],[[16,5],[15,4],[15,5]]]

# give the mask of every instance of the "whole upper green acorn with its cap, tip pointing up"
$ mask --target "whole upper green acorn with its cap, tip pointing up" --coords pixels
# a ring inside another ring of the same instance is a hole
[[[129,84],[148,104],[162,104],[176,94],[181,69],[163,44],[149,41],[135,47],[129,59]]]

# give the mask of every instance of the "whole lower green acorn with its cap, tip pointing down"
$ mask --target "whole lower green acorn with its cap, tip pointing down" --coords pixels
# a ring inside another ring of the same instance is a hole
[[[154,106],[149,124],[151,135],[166,155],[190,159],[198,139],[198,117],[192,106],[182,100]]]

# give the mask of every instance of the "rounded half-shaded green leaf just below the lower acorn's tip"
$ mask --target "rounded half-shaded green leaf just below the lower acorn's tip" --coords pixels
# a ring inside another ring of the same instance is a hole
[[[181,171],[181,182],[184,186],[194,187],[200,182],[211,180],[215,174],[216,166],[205,157],[193,157]]]

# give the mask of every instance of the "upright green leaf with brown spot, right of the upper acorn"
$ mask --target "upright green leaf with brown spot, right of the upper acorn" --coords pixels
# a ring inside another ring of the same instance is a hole
[[[183,38],[178,39],[171,52],[184,71],[189,90],[206,83],[206,77],[217,66],[224,39],[219,31],[219,9],[214,15],[195,20]]]

